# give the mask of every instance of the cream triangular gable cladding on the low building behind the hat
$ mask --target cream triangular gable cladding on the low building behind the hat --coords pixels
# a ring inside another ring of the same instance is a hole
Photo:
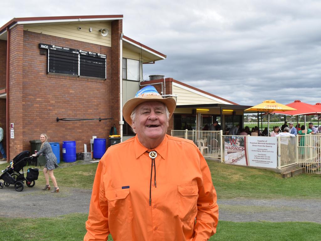
[[[178,86],[172,85],[172,93],[178,95],[177,105],[187,105],[187,104],[216,104],[221,103],[199,94],[193,93],[188,90],[184,90]]]

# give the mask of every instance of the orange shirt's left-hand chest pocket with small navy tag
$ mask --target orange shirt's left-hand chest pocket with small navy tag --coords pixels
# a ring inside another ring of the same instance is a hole
[[[105,195],[108,200],[108,220],[118,223],[130,223],[133,219],[133,209],[129,188],[107,189]]]

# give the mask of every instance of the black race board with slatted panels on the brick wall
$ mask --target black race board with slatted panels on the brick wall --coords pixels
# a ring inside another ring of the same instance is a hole
[[[106,79],[106,55],[39,43],[48,50],[48,73]]]

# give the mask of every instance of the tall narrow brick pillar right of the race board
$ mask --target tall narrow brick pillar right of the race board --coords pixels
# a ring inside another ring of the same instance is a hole
[[[120,109],[119,109],[119,77],[120,77],[120,35],[123,31],[123,21],[114,20],[111,22],[111,89],[110,102],[111,102],[111,115],[114,117],[112,121],[117,128],[117,133],[120,133]]]

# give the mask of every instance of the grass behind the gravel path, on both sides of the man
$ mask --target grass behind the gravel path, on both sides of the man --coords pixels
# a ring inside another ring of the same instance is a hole
[[[55,170],[58,185],[90,189],[97,163],[82,165],[82,162],[61,163]],[[321,176],[301,174],[282,178],[280,174],[264,169],[221,164],[207,160],[219,199],[229,198],[317,198],[321,199]],[[7,165],[1,164],[0,170]],[[28,166],[27,166],[28,167]],[[27,168],[25,168],[26,171]],[[40,172],[36,185],[45,183]],[[313,185],[311,185],[313,183]]]

